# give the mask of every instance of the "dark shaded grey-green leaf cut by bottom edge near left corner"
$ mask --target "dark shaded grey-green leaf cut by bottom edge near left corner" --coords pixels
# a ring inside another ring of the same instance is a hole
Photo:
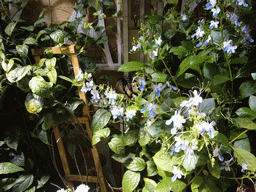
[[[33,175],[21,175],[16,181],[15,185],[13,186],[13,192],[21,192],[25,191],[30,187],[30,185],[34,181]]]

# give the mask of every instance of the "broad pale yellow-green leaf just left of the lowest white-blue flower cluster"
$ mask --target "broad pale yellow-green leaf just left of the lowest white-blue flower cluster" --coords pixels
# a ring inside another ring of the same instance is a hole
[[[164,171],[172,172],[173,165],[180,163],[180,159],[175,155],[170,155],[169,153],[158,151],[154,156],[153,160],[157,167]]]

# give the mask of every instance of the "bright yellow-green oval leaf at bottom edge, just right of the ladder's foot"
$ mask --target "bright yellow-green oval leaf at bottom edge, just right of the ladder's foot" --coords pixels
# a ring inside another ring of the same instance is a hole
[[[132,192],[140,182],[140,173],[127,170],[123,175],[123,192]]]

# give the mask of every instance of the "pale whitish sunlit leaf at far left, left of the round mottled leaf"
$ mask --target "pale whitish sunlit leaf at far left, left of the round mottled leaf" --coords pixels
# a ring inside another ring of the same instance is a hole
[[[23,77],[25,77],[26,74],[30,70],[31,70],[31,66],[30,65],[25,66],[25,67],[18,66],[15,69],[11,70],[9,73],[6,73],[6,78],[11,83],[15,83],[15,82],[21,80]]]

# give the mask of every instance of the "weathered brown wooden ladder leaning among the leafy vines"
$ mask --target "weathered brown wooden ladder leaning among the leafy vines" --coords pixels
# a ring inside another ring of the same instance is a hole
[[[44,54],[45,49],[47,49],[47,48],[31,50],[36,63],[39,63],[41,56]],[[62,46],[62,47],[48,47],[48,49],[51,49],[53,54],[68,54],[68,55],[70,55],[73,69],[74,69],[74,74],[75,74],[75,76],[78,75],[80,66],[79,66],[79,62],[78,62],[75,45]],[[87,105],[86,95],[84,92],[81,92],[80,89],[81,89],[81,87],[78,87],[79,97],[84,102],[83,117],[78,117],[76,119],[79,121],[78,123],[86,125],[87,135],[90,139],[92,139],[92,132],[91,132],[90,126],[89,126],[90,114],[89,114],[89,108]],[[55,139],[56,139],[56,141],[58,141],[57,147],[58,147],[58,151],[60,154],[62,166],[63,166],[64,172],[65,172],[65,178],[68,182],[69,187],[73,188],[74,181],[83,181],[83,182],[88,182],[88,183],[98,183],[100,185],[101,191],[107,192],[106,184],[105,184],[104,176],[103,176],[103,171],[102,171],[102,166],[101,166],[101,162],[100,162],[100,158],[99,158],[99,154],[98,154],[98,150],[97,150],[96,146],[92,146],[91,151],[92,151],[92,157],[93,157],[97,176],[71,174],[66,150],[64,148],[63,141],[60,137],[59,127],[58,127],[58,125],[55,125],[53,127],[54,127],[53,130],[54,130]]]

